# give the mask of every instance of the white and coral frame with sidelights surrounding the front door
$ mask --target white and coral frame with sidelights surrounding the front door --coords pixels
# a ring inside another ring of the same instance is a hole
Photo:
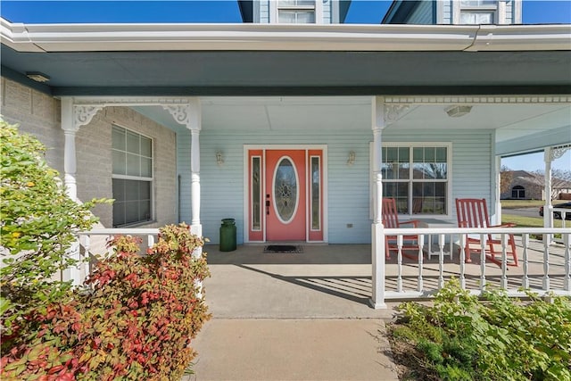
[[[323,194],[323,200],[322,200],[322,207],[323,207],[323,221],[322,221],[322,227],[323,227],[323,240],[321,241],[310,241],[309,240],[309,233],[308,233],[308,228],[310,226],[310,216],[309,216],[309,203],[310,203],[310,198],[306,197],[305,200],[305,223],[306,223],[306,232],[305,232],[305,242],[315,242],[315,243],[326,243],[328,241],[328,198],[327,198],[327,185],[328,185],[328,178],[327,178],[327,145],[244,145],[244,163],[243,163],[243,167],[244,168],[244,185],[243,185],[243,189],[244,189],[244,214],[243,214],[243,227],[244,227],[244,244],[249,244],[249,243],[265,243],[266,242],[266,214],[262,213],[262,225],[263,225],[263,239],[261,241],[251,241],[250,240],[250,236],[249,236],[249,215],[250,215],[250,192],[249,192],[249,188],[250,188],[250,173],[249,173],[249,168],[250,168],[250,163],[249,163],[249,157],[248,157],[248,152],[250,150],[261,150],[262,151],[262,166],[261,166],[261,171],[263,173],[266,173],[266,161],[265,161],[265,153],[267,150],[304,150],[305,151],[305,157],[306,157],[306,165],[307,165],[307,160],[309,159],[309,151],[310,150],[321,150],[323,153],[323,162],[321,163],[321,169],[322,169],[322,194]],[[305,192],[306,195],[310,195],[310,183],[306,182],[307,184],[305,185]],[[265,195],[266,192],[266,186],[265,186],[265,181],[262,183],[263,186],[263,191],[262,191],[262,195]],[[264,198],[265,200],[265,198]]]

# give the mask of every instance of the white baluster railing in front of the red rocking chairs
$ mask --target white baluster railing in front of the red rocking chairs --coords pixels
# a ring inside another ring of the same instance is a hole
[[[472,294],[496,287],[512,296],[525,296],[524,289],[540,295],[571,295],[569,228],[396,228],[384,232],[396,236],[397,245],[397,251],[391,251],[391,258],[385,261],[385,300],[430,297],[451,277],[459,278],[462,288]],[[509,234],[517,244],[517,267],[508,266]],[[414,253],[402,255],[403,236],[417,235],[418,260],[410,260]],[[486,261],[488,235],[501,241],[500,264]],[[560,235],[562,244],[548,244],[546,235]],[[433,237],[432,247],[427,247],[427,236]],[[472,263],[466,263],[468,236],[481,242]]]

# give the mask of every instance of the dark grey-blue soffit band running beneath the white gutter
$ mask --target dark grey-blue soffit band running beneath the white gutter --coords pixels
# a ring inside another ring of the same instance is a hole
[[[566,94],[569,51],[16,52],[3,75],[51,95]]]

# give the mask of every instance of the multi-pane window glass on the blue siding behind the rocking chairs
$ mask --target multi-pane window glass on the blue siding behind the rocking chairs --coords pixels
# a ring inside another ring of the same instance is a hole
[[[448,214],[449,145],[382,148],[383,196],[402,214]]]

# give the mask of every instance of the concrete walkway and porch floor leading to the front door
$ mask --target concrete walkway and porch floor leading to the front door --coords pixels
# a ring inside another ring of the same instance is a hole
[[[385,338],[393,310],[371,309],[370,279],[363,284],[370,246],[304,248],[206,246],[213,317],[193,342],[199,354],[185,380],[398,380]]]

